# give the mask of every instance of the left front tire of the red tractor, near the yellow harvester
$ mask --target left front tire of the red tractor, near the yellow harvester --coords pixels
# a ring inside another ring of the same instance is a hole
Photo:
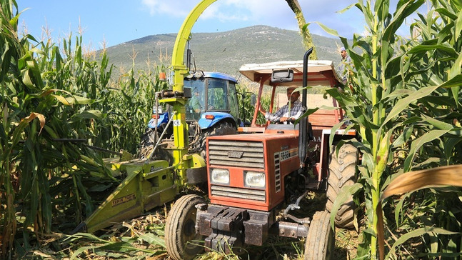
[[[171,207],[165,224],[165,244],[172,259],[191,260],[204,251],[199,244],[203,236],[196,234],[196,205],[205,203],[201,196],[182,196]]]

